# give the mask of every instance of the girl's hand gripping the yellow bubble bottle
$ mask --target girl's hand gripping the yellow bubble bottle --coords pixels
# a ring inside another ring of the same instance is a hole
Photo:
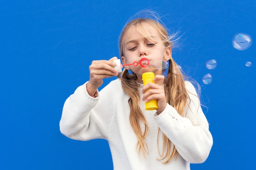
[[[160,114],[162,111],[164,111],[167,105],[163,87],[164,76],[155,75],[153,81],[155,81],[155,83],[148,83],[142,88],[142,94],[144,94],[142,100],[148,102],[150,100],[156,99],[158,106],[157,112]]]

